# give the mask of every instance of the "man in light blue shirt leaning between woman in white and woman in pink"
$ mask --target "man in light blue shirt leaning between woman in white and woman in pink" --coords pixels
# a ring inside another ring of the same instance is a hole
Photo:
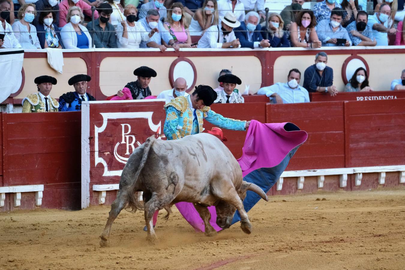
[[[164,28],[160,15],[156,9],[151,9],[147,12],[145,18],[139,20],[147,32],[156,29],[153,36],[148,41],[143,41],[139,45],[140,48],[159,48],[161,52],[166,51],[167,48],[173,48],[179,51],[179,46],[175,44],[172,35]],[[162,45],[162,40],[168,45]]]

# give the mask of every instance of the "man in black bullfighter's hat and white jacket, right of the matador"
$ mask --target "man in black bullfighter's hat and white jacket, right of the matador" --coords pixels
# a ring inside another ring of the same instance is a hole
[[[224,85],[224,90],[217,92],[214,103],[244,103],[245,99],[240,93],[234,92],[236,85],[242,83],[234,74],[224,74],[218,78],[218,82]]]

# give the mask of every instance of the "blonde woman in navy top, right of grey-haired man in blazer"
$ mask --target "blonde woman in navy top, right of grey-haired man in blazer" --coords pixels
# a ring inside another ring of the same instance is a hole
[[[270,47],[290,47],[290,42],[288,41],[287,35],[283,31],[284,21],[281,18],[281,15],[278,13],[269,14],[269,26],[266,29],[262,30],[262,36],[265,38],[266,31],[268,33],[268,40]]]

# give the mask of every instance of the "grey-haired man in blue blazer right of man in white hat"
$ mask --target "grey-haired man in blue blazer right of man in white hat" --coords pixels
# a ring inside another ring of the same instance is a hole
[[[262,27],[259,24],[260,16],[255,11],[249,11],[245,15],[245,21],[241,26],[234,29],[236,38],[239,38],[242,48],[267,48],[270,47],[269,40],[263,39],[260,31]]]

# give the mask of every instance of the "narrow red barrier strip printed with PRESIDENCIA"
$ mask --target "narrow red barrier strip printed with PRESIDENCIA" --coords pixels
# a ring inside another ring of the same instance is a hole
[[[405,91],[372,91],[372,92],[339,92],[336,96],[324,93],[309,93],[309,100],[313,101],[338,101],[338,100],[392,100],[405,98]]]

